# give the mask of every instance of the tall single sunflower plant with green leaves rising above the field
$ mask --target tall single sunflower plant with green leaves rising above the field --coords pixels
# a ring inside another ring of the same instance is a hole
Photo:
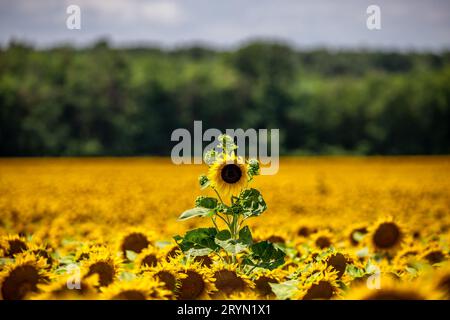
[[[256,268],[274,269],[284,263],[285,253],[268,241],[254,243],[250,228],[244,225],[248,218],[257,217],[267,209],[261,193],[249,187],[253,177],[259,175],[259,162],[237,157],[237,146],[231,137],[220,136],[219,142],[222,153],[211,151],[205,155],[208,174],[199,177],[200,188],[210,187],[216,198],[197,197],[195,208],[179,217],[179,220],[210,217],[213,227],[194,229],[174,239],[185,254],[194,257],[213,252],[222,260],[225,256],[229,264],[237,264],[239,270],[249,267],[249,273]],[[225,198],[230,199],[229,204],[223,201]],[[227,228],[221,230],[217,219]]]

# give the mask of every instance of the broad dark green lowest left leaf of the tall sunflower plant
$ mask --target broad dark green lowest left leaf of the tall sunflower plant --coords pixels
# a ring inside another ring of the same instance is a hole
[[[219,248],[219,246],[214,241],[216,234],[217,230],[215,228],[198,228],[186,232],[184,237],[175,236],[174,239],[180,247],[181,251],[183,251],[184,253],[188,252],[191,249],[209,249],[209,253]],[[196,255],[197,253],[198,251],[190,251],[191,255]]]

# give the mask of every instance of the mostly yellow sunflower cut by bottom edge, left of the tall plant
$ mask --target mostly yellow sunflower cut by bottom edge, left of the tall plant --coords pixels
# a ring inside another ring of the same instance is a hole
[[[105,300],[167,300],[171,291],[158,280],[144,277],[118,281],[101,289]]]

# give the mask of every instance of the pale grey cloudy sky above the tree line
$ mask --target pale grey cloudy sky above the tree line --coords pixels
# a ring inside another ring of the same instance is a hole
[[[81,30],[68,30],[66,8],[81,8]],[[381,30],[366,27],[369,5]],[[86,45],[232,47],[252,39],[299,47],[450,48],[448,0],[0,0],[0,45],[10,39],[46,47]]]

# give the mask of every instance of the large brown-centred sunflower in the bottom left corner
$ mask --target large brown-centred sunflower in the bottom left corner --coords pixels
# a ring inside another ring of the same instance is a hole
[[[16,255],[0,273],[0,291],[3,300],[22,300],[39,291],[38,285],[49,280],[46,261],[28,253]]]

